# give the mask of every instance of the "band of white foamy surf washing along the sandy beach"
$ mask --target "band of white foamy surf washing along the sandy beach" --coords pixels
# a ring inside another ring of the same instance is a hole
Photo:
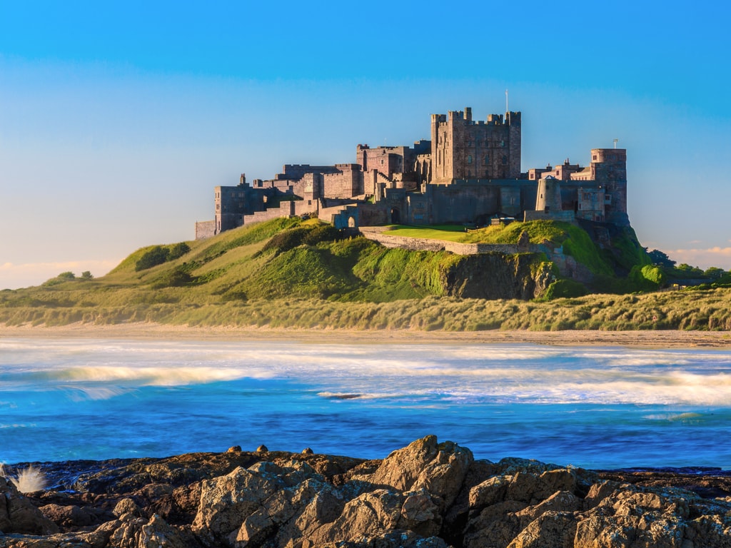
[[[108,399],[136,387],[282,378],[313,384],[321,395],[357,393],[361,400],[429,395],[731,406],[727,351],[145,340],[52,340],[37,347],[6,340],[0,349],[11,357],[0,365],[0,390],[65,389],[72,399]]]

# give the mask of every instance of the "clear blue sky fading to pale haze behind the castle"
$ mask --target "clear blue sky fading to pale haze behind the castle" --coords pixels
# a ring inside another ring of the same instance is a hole
[[[430,115],[523,113],[523,171],[627,149],[643,246],[731,269],[731,4],[0,0],[0,289],[194,237],[213,187]]]

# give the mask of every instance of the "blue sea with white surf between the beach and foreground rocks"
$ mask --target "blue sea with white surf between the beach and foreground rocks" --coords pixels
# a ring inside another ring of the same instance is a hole
[[[270,451],[731,468],[731,349],[0,338],[0,462]]]

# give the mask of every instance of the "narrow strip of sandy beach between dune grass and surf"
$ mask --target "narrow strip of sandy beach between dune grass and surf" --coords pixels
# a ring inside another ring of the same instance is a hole
[[[195,340],[298,340],[313,343],[534,343],[558,346],[610,345],[644,348],[724,348],[728,331],[417,331],[297,330],[268,327],[186,327],[131,323],[69,324],[61,327],[0,325],[0,338],[179,338]]]

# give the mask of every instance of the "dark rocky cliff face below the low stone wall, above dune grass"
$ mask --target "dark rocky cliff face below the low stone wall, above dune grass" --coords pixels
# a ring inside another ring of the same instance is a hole
[[[545,292],[553,275],[534,254],[486,253],[464,256],[442,271],[441,281],[450,297],[529,300]]]

